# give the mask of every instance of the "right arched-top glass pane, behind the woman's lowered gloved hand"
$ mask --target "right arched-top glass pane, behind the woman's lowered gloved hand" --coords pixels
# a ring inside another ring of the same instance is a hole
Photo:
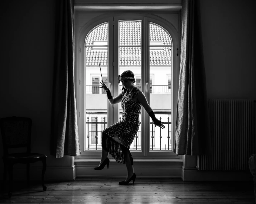
[[[169,34],[156,24],[149,24],[149,32],[149,73],[154,76],[154,81],[150,79],[150,107],[156,118],[165,125],[165,129],[160,129],[155,127],[150,119],[150,151],[172,150],[172,135],[168,132],[168,126],[169,131],[172,130],[172,40]]]

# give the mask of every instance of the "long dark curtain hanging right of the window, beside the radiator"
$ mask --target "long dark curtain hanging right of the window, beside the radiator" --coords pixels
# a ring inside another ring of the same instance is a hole
[[[202,50],[199,2],[183,0],[174,147],[178,155],[211,155],[212,152]]]

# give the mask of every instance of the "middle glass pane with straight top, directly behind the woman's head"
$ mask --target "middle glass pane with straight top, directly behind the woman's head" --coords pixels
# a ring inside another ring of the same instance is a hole
[[[141,21],[119,21],[119,74],[131,70],[135,75],[135,86],[141,89]],[[121,93],[122,84],[119,86]],[[122,118],[122,108],[119,104]],[[140,114],[141,123],[141,114]],[[130,146],[131,151],[141,151],[141,125]],[[137,142],[137,143],[136,143]]]

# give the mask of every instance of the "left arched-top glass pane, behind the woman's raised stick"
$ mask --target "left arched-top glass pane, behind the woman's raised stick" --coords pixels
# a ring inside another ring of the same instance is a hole
[[[108,66],[108,24],[102,24],[95,27],[86,38],[85,46],[85,108],[86,108],[86,150],[101,151],[101,132],[103,131],[103,117],[107,118],[107,97],[106,93],[100,88],[100,81],[107,84],[107,66]],[[99,68],[101,65],[101,72]],[[97,124],[92,123],[96,121]],[[97,127],[96,127],[97,126]],[[105,119],[107,127],[107,119]],[[97,131],[96,131],[97,128]]]

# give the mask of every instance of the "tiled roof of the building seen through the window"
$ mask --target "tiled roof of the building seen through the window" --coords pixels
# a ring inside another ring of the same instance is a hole
[[[119,22],[120,65],[141,65],[141,22]],[[158,25],[149,24],[150,65],[171,65],[172,42],[168,33]],[[108,24],[102,24],[93,29],[86,39],[86,65],[107,65]],[[93,47],[97,45],[98,47]]]

